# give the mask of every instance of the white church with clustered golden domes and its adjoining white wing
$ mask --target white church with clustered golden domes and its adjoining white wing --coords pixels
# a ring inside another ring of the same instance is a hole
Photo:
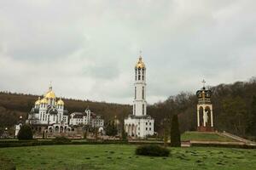
[[[26,124],[32,125],[36,136],[41,136],[43,133],[47,136],[82,136],[84,126],[97,127],[99,132],[102,132],[104,120],[89,108],[84,113],[73,112],[69,116],[64,101],[56,98],[50,85],[43,99],[39,97],[28,113]],[[15,136],[19,133],[21,126],[21,122],[15,126]]]

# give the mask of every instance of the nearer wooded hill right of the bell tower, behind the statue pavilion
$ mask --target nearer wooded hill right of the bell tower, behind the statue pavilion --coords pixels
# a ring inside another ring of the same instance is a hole
[[[210,89],[215,129],[255,139],[256,78],[248,82],[219,84]],[[163,118],[170,122],[173,114],[178,114],[182,132],[191,131],[196,130],[196,105],[195,92],[180,93],[149,106],[148,113],[154,117],[159,132],[163,129]]]

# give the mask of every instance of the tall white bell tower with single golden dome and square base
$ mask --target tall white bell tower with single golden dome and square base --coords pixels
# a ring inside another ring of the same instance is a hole
[[[146,66],[140,56],[135,65],[133,114],[125,118],[125,133],[129,137],[154,134],[154,119],[147,115],[146,85]]]

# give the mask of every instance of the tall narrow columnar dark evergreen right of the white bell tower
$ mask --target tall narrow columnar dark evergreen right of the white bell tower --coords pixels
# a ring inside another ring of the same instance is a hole
[[[180,132],[178,127],[177,115],[172,116],[172,124],[171,124],[171,146],[172,147],[180,147]]]

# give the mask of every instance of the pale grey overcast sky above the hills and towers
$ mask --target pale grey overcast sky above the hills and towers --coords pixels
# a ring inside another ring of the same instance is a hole
[[[255,0],[0,0],[0,90],[149,104],[256,73]]]

